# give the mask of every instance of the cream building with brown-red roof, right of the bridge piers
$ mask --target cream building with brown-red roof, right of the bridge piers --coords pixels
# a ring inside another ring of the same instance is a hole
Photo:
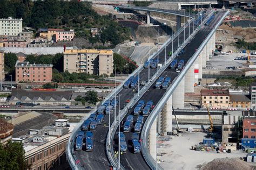
[[[201,107],[228,108],[230,94],[228,90],[201,90]]]

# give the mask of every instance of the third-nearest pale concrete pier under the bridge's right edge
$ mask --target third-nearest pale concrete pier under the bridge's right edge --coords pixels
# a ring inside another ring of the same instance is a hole
[[[185,92],[185,80],[184,78],[179,82],[177,88],[173,91],[173,108],[184,108],[184,92]]]

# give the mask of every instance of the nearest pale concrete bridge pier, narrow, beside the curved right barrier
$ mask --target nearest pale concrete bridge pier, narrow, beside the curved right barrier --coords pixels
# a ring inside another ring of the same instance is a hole
[[[150,128],[150,154],[154,160],[156,160],[157,152],[157,118],[154,120]]]

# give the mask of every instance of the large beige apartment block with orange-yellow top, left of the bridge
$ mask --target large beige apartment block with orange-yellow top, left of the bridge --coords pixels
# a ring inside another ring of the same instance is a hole
[[[113,73],[112,50],[66,49],[64,52],[64,71],[110,75]]]

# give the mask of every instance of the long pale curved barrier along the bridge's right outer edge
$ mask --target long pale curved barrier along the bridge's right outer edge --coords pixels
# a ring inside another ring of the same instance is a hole
[[[158,113],[161,111],[161,109],[164,107],[164,104],[167,102],[167,100],[169,100],[169,97],[171,96],[171,94],[173,93],[174,89],[176,89],[176,87],[178,86],[178,83],[183,79],[183,77],[185,76],[185,74],[188,72],[188,69],[191,67],[191,65],[193,64],[193,62],[197,59],[197,56],[199,55],[199,53],[203,50],[204,46],[206,45],[207,41],[212,37],[213,33],[217,30],[217,27],[221,24],[221,22],[224,20],[224,18],[228,15],[229,11],[227,11],[225,13],[225,15],[220,19],[220,21],[218,22],[218,24],[216,24],[216,26],[214,27],[214,29],[210,32],[210,34],[208,34],[207,38],[205,39],[205,41],[199,46],[198,50],[196,53],[194,53],[194,55],[192,56],[192,58],[190,60],[188,60],[186,67],[181,71],[180,75],[178,77],[176,77],[176,79],[173,80],[172,86],[170,86],[166,91],[167,93],[165,93],[165,95],[161,98],[159,104],[157,105],[157,107],[155,107],[151,114],[149,115],[149,117],[147,118],[144,126],[143,126],[143,130],[142,130],[142,134],[141,134],[141,138],[142,138],[142,153],[143,156],[147,162],[147,164],[150,166],[151,169],[156,169],[156,161],[152,158],[149,149],[148,149],[148,141],[147,141],[147,137],[149,136],[149,129],[152,126],[154,119],[156,119]],[[204,24],[204,23],[202,23]],[[161,168],[158,166],[158,168]]]

